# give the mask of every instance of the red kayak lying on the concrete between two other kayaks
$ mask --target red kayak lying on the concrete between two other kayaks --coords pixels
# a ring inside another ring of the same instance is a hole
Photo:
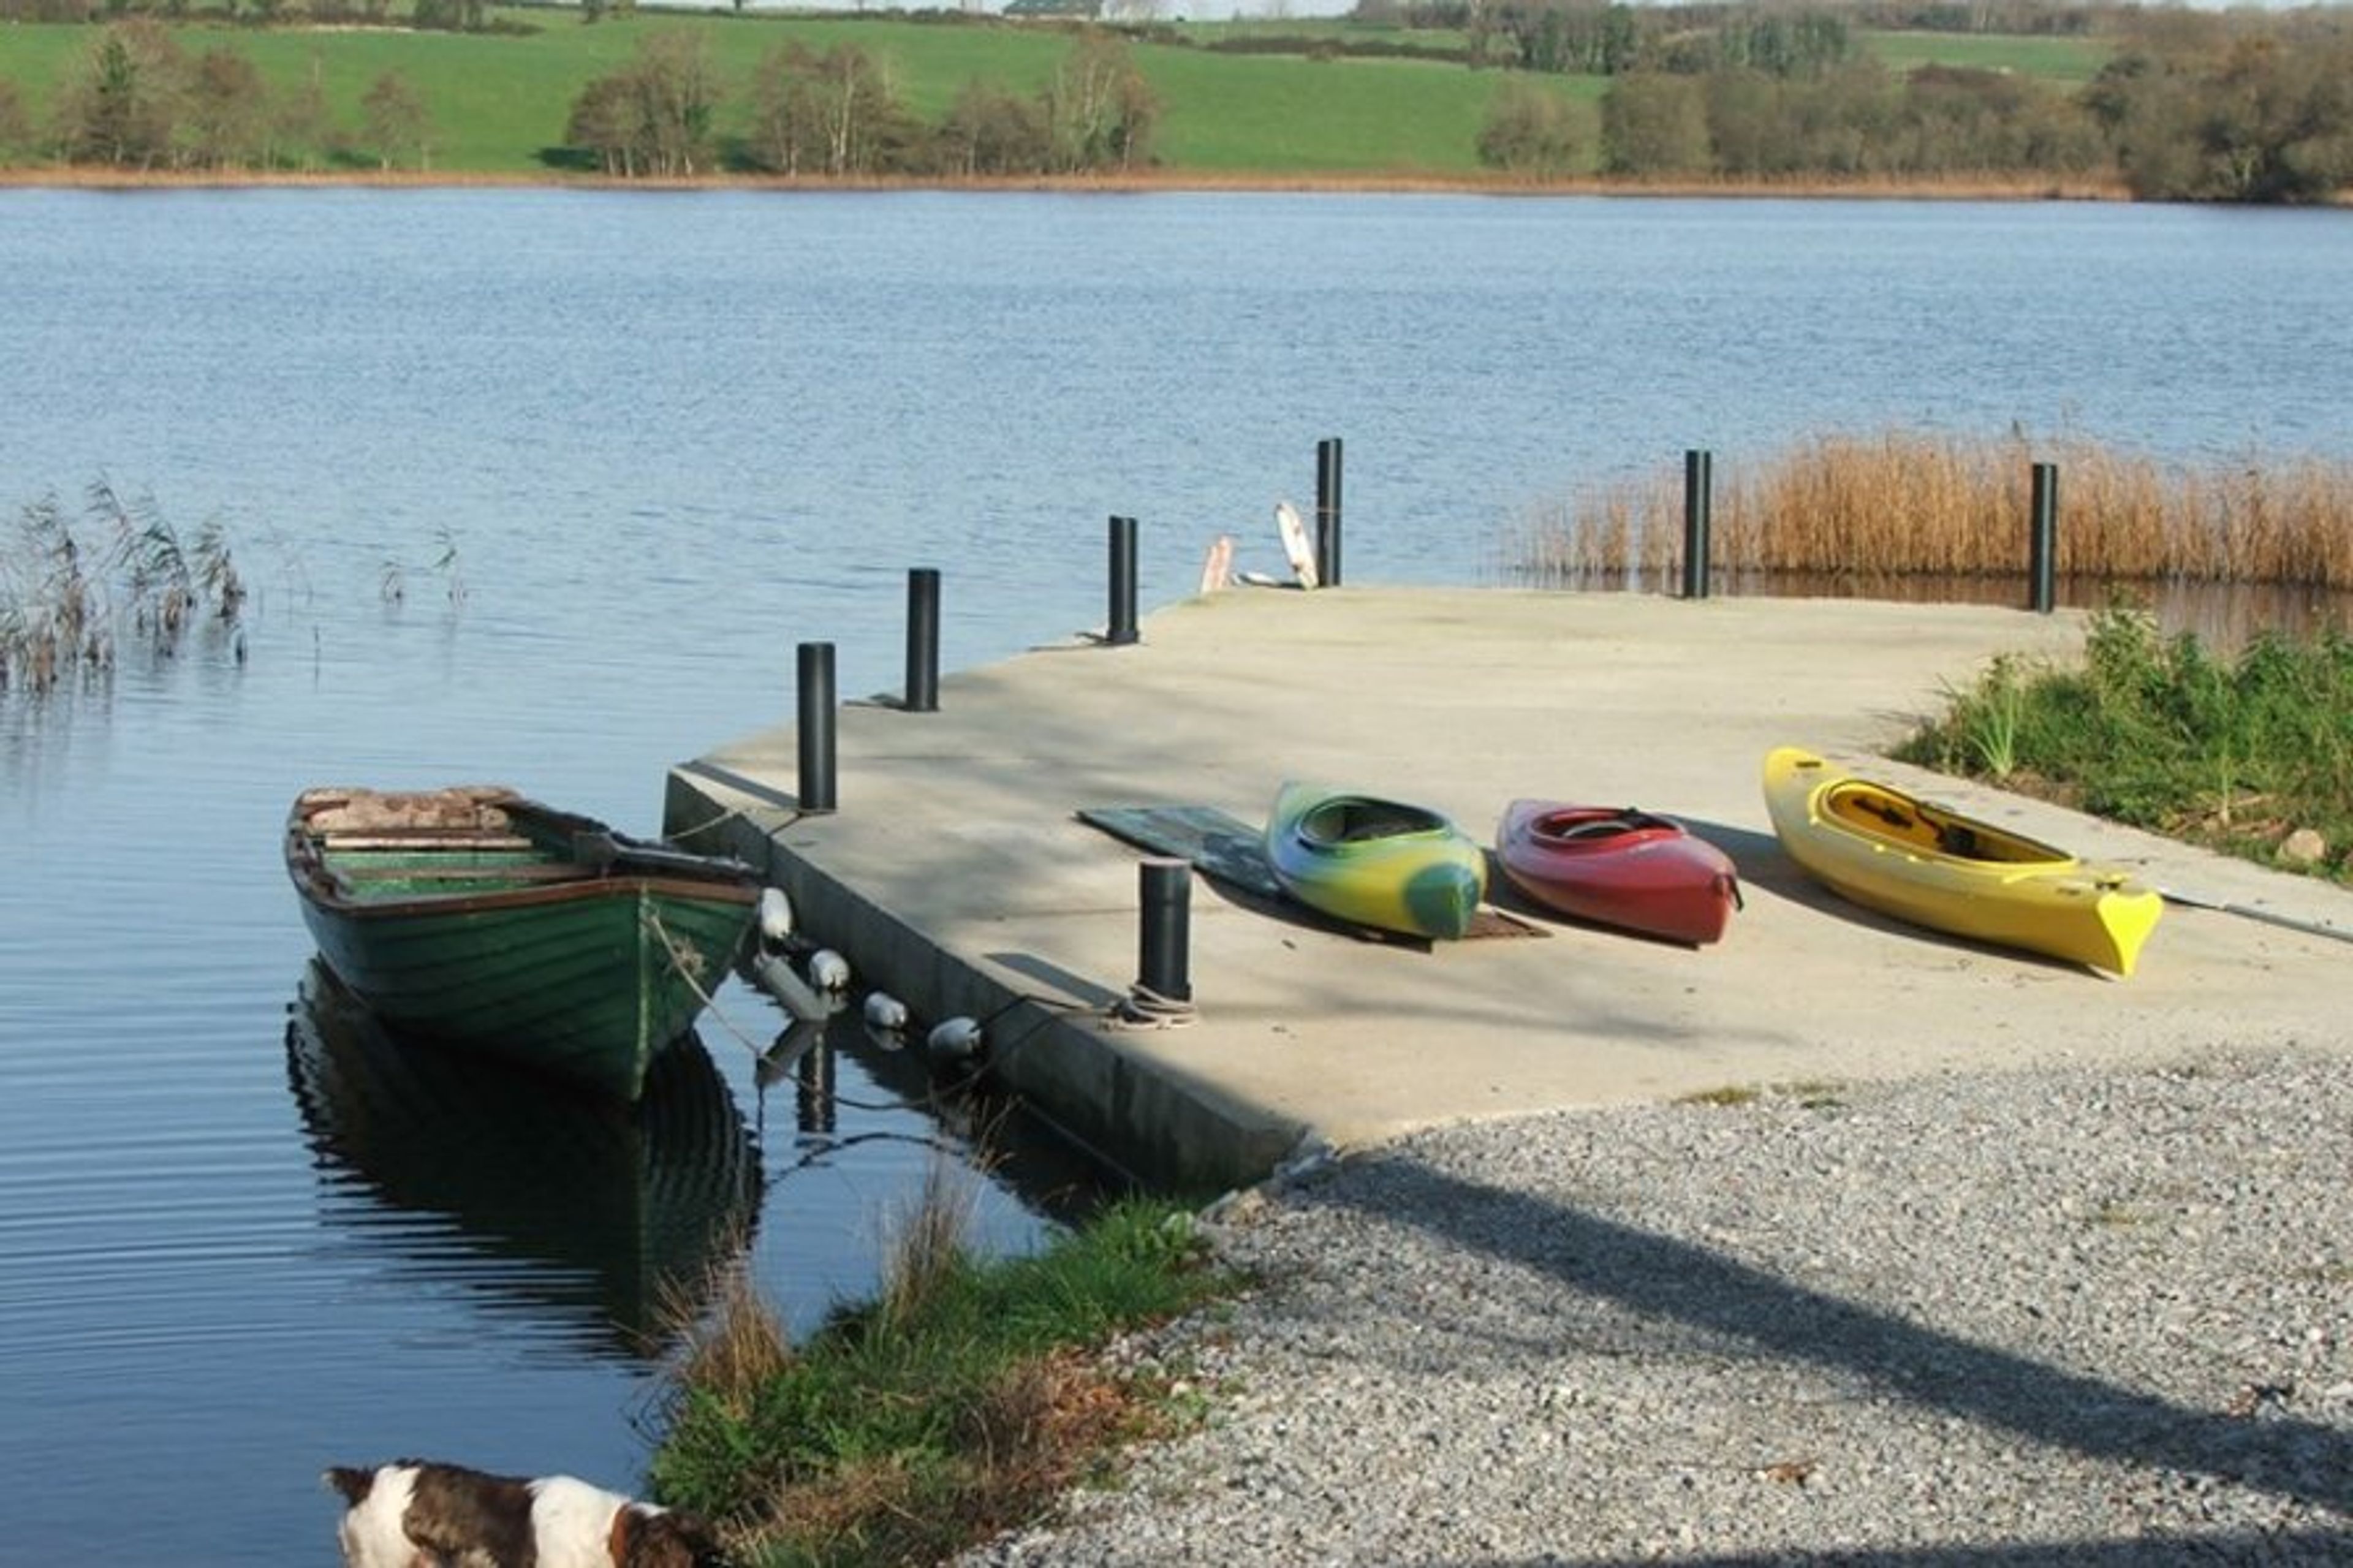
[[[1722,850],[1649,812],[1513,800],[1494,852],[1511,885],[1546,909],[1671,942],[1715,942],[1741,902]]]

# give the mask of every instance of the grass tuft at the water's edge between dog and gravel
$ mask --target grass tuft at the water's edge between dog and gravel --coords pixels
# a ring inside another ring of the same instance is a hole
[[[689,1335],[652,1481],[725,1521],[746,1563],[941,1561],[1184,1420],[1179,1389],[1096,1351],[1231,1288],[1188,1215],[1125,1201],[976,1262],[955,1180],[939,1168],[899,1217],[878,1297],[805,1344],[744,1288]]]

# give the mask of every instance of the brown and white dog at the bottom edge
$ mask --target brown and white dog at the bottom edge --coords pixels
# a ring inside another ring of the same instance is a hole
[[[718,1568],[727,1559],[692,1514],[635,1502],[572,1476],[487,1476],[395,1460],[329,1467],[344,1495],[346,1568]]]

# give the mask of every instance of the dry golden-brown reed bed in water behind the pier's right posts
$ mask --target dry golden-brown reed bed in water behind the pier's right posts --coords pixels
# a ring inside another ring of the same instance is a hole
[[[1885,584],[2026,570],[2035,461],[2057,466],[2059,577],[2353,593],[2353,464],[2160,464],[2089,440],[1819,436],[1729,476],[1715,466],[1711,574]],[[1682,565],[1682,473],[1539,509],[1506,572],[1539,584],[1666,586]]]

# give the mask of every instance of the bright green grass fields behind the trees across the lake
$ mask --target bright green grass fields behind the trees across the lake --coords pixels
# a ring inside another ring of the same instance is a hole
[[[188,54],[214,47],[242,52],[278,92],[315,73],[344,127],[360,125],[362,94],[376,78],[395,71],[424,99],[435,172],[506,179],[546,177],[544,153],[560,144],[581,87],[626,64],[654,31],[694,31],[706,40],[727,94],[722,129],[741,125],[753,66],[786,42],[866,49],[889,73],[904,106],[922,120],[939,120],[969,82],[1035,94],[1071,47],[1066,31],[1047,26],[967,26],[904,16],[640,12],[584,24],[576,12],[560,7],[501,16],[532,31],[452,35],[181,24],[172,35]],[[1264,35],[1273,26],[1191,24],[1184,33]],[[1329,19],[1287,26],[1301,35],[1332,35],[1341,28]],[[82,71],[96,38],[99,31],[87,26],[0,28],[0,78],[14,82],[35,125],[45,122],[56,85]],[[1901,66],[1937,59],[2066,80],[2089,75],[2101,57],[2097,42],[2035,38],[1871,33],[1866,47]],[[1468,71],[1433,59],[1221,54],[1172,42],[1139,42],[1134,61],[1160,97],[1160,167],[1235,179],[1475,179],[1482,174],[1478,132],[1489,99],[1508,80],[1499,71]],[[1584,101],[1598,101],[1605,89],[1600,78],[1548,80]]]

